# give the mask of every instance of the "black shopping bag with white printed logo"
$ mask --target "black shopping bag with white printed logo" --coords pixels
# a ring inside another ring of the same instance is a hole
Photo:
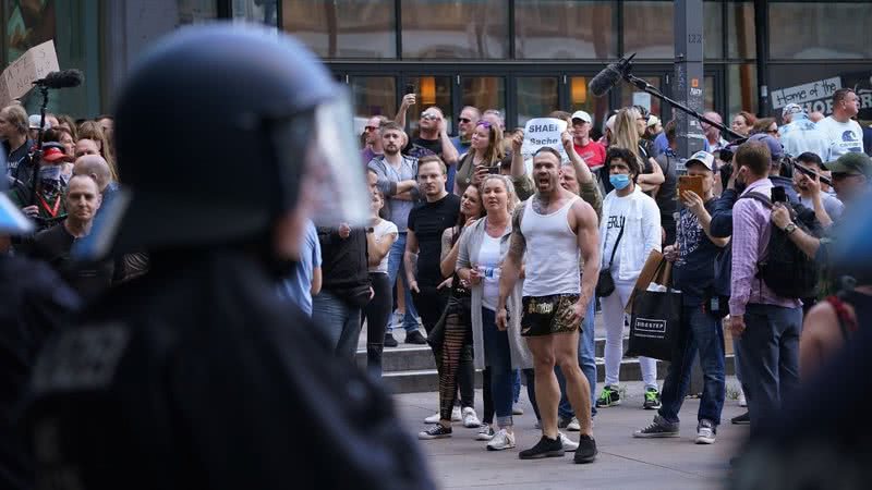
[[[635,292],[627,356],[673,360],[673,350],[680,333],[680,292],[671,287]]]

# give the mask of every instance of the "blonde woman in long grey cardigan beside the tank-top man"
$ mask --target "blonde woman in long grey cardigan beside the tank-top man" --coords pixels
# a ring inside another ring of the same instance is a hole
[[[496,327],[499,271],[509,250],[514,187],[502,175],[488,175],[481,183],[487,216],[463,233],[457,260],[458,275],[472,286],[472,339],[475,368],[491,370],[491,389],[499,430],[487,443],[491,451],[514,448],[512,430],[512,370],[533,366],[521,340],[521,286],[519,281],[508,301],[509,328]],[[528,388],[530,388],[528,382]],[[485,414],[486,416],[487,414]]]

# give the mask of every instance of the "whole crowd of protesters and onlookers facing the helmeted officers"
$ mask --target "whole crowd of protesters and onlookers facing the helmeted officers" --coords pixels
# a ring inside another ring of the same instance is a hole
[[[294,268],[275,289],[311,316],[339,357],[353,357],[365,327],[374,378],[400,330],[402,342],[429,346],[438,414],[426,419],[422,440],[449,438],[461,422],[479,429],[487,450],[516,448],[512,416],[521,413],[523,379],[542,438],[520,458],[569,451],[576,463],[594,461],[593,417],[622,402],[626,311],[652,253],[673,264],[681,335],[662,385],[656,359],[639,359],[642,408],[656,415],[635,438],[679,434],[699,356],[704,387],[695,442],[715,442],[726,393],[725,326],[739,403],[748,406],[732,422],[750,424],[753,436],[865,311],[872,284],[847,286],[827,267],[844,216],[872,177],[872,148],[864,146],[872,130],[855,120],[851,89],[835,93],[825,118],[797,105],[784,108],[780,125],[738,112],[730,126],[743,137],[734,142],[703,123],[704,148],[693,155],[677,154],[675,121],[643,107],[621,108],[600,126],[585,111],[556,111],[548,115],[567,123],[566,159],[552,147],[524,155],[523,128],[506,128],[494,109],[462,108],[451,137],[443,110],[427,107],[407,133],[405,112],[415,103],[407,95],[393,120],[367,120],[363,161],[346,162],[366,169],[368,224],[310,221]],[[112,123],[110,115],[28,117],[19,105],[0,110],[7,193],[34,228],[4,241],[4,253],[47,262],[85,301],[149,268],[142,252],[86,265],[71,259],[123,182]],[[679,189],[681,175],[699,177],[699,194]],[[772,266],[788,244],[804,268]],[[807,269],[815,274],[808,287],[785,287],[808,282],[791,275]],[[59,308],[72,310],[72,297]],[[605,328],[598,393],[597,309]],[[481,417],[476,370],[484,377]],[[565,431],[578,431],[578,441]]]

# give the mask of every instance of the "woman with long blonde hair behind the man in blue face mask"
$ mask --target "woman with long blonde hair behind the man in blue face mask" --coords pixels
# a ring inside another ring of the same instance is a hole
[[[609,147],[625,148],[639,160],[642,173],[639,174],[637,184],[646,194],[656,194],[659,185],[666,181],[661,166],[649,155],[642,145],[642,136],[647,130],[647,118],[642,115],[639,109],[626,107],[618,111],[615,117],[615,130]],[[605,166],[606,177],[603,183],[608,182],[608,166]],[[610,192],[610,185],[606,185],[606,193]]]

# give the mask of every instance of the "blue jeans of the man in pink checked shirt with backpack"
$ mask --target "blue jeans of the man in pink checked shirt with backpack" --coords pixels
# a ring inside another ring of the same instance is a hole
[[[751,414],[751,436],[778,416],[782,400],[799,389],[802,308],[751,304],[739,338],[742,389]]]

